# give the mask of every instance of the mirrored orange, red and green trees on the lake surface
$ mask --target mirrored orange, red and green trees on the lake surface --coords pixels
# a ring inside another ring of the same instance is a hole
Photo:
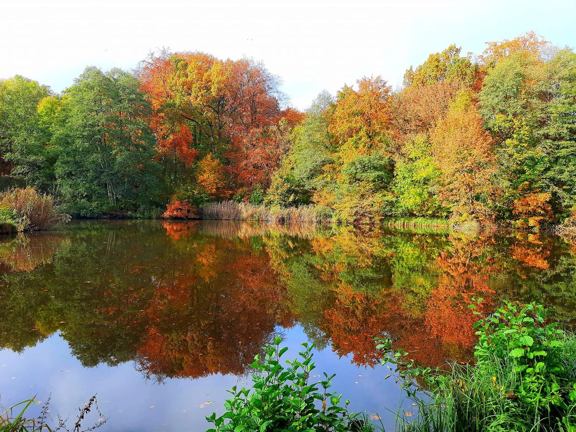
[[[162,381],[242,374],[300,324],[348,365],[376,365],[381,335],[434,366],[470,357],[474,296],[574,320],[575,253],[526,233],[75,222],[0,241],[0,344],[22,352],[59,331],[83,366],[135,361]]]

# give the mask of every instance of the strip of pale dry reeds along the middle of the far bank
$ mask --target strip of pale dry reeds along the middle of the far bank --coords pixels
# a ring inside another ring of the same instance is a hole
[[[299,207],[267,207],[263,204],[222,201],[200,208],[202,219],[219,221],[259,221],[274,223],[310,223],[331,219],[331,214],[313,205]]]

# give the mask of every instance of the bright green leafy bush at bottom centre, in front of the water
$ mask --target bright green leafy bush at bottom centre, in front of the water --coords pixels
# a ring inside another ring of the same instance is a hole
[[[287,347],[282,339],[264,348],[264,357],[256,355],[252,367],[252,390],[232,388],[232,398],[226,400],[226,413],[215,413],[206,419],[216,429],[225,431],[371,431],[373,428],[358,414],[348,413],[340,406],[342,395],[328,392],[334,375],[324,374],[324,380],[309,382],[310,372],[316,368],[312,361],[313,344],[304,343],[301,359],[281,364]],[[321,389],[321,391],[319,391]]]

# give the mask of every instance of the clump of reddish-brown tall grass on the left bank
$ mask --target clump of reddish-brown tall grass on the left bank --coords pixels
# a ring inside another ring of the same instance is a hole
[[[39,194],[34,188],[13,189],[0,195],[0,208],[12,212],[12,222],[18,232],[54,228],[70,221],[59,213],[50,195]]]

